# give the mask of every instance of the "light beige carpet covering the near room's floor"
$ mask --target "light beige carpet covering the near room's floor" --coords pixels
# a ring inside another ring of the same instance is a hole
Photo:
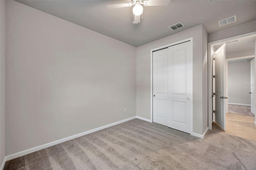
[[[256,169],[256,141],[209,130],[204,139],[133,119],[10,160],[5,170]]]

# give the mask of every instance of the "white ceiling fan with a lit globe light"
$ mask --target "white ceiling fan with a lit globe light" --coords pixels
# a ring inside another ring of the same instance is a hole
[[[134,5],[132,8],[133,12],[133,23],[138,24],[140,22],[140,15],[142,15],[143,12],[143,7],[144,6],[166,6],[170,4],[171,0],[132,0],[131,2],[128,3],[122,3],[122,4],[112,4],[108,5],[108,9],[115,9],[115,8],[123,8],[123,7],[130,7]],[[142,16],[143,18],[143,16]]]

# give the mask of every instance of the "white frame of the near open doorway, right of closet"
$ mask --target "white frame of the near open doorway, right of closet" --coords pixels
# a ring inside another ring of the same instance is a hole
[[[213,79],[213,75],[212,75],[212,61],[213,61],[213,51],[212,51],[212,46],[213,45],[217,45],[217,44],[221,44],[221,43],[226,43],[226,42],[230,42],[236,39],[242,39],[242,38],[249,38],[252,36],[256,36],[256,32],[251,32],[248,34],[243,34],[240,36],[234,36],[231,38],[226,38],[226,39],[222,39],[222,40],[218,40],[215,42],[210,42],[208,43],[208,129],[212,130],[212,120],[213,120],[213,106],[212,106],[212,91],[213,91],[213,84],[212,84],[212,79]]]

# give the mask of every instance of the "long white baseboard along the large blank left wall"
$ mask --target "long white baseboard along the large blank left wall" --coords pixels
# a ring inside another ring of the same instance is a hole
[[[108,127],[112,127],[114,125],[118,125],[120,123],[124,123],[126,121],[130,121],[132,119],[135,119],[136,116],[134,117],[130,117],[128,119],[124,119],[122,121],[118,121],[118,122],[115,122],[115,123],[110,123],[108,125],[105,125],[105,126],[102,126],[102,127],[98,127],[98,128],[94,128],[92,130],[88,130],[86,132],[82,132],[82,133],[78,133],[78,134],[75,134],[75,135],[72,135],[72,136],[69,136],[69,137],[66,137],[66,138],[62,138],[62,139],[59,139],[59,140],[55,140],[53,142],[49,142],[49,143],[46,143],[46,144],[43,144],[43,145],[40,145],[40,146],[36,146],[34,148],[30,148],[30,149],[27,149],[27,150],[23,150],[23,151],[20,151],[20,152],[17,152],[17,153],[14,153],[14,154],[10,154],[8,156],[5,157],[5,161],[8,161],[8,160],[11,160],[11,159],[14,159],[14,158],[18,158],[20,156],[24,156],[26,154],[30,154],[32,152],[36,152],[38,150],[41,150],[41,149],[44,149],[44,148],[48,148],[50,146],[53,146],[53,145],[56,145],[56,144],[59,144],[59,143],[62,143],[62,142],[66,142],[68,140],[72,140],[74,138],[78,138],[80,136],[84,136],[86,134],[89,134],[89,133],[92,133],[92,132],[96,132],[98,130],[102,130],[104,128],[108,128]]]

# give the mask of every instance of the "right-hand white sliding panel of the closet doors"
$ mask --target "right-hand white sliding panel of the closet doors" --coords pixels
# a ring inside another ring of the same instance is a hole
[[[170,121],[169,127],[191,132],[191,50],[190,42],[168,48],[170,67]]]

